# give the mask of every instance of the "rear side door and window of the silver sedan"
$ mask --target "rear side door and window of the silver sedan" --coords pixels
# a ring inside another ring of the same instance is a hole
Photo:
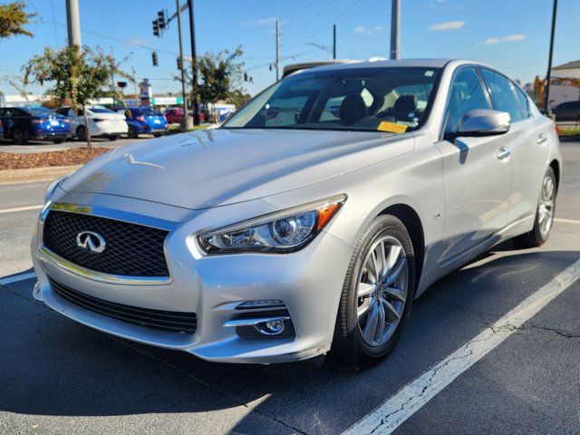
[[[507,111],[511,126],[505,144],[512,161],[511,193],[507,203],[507,223],[535,216],[540,185],[546,171],[552,123],[534,118],[527,95],[506,76],[486,68],[481,76],[488,86],[491,104],[497,111]]]

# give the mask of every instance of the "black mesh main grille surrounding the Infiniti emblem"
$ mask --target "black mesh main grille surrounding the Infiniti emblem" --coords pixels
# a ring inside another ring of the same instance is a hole
[[[101,253],[78,247],[82,231],[106,242]],[[44,220],[43,244],[75,265],[111,275],[169,276],[163,244],[168,231],[121,220],[51,210]]]

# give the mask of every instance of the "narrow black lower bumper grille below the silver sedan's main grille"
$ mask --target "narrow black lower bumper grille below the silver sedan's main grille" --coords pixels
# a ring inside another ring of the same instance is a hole
[[[195,313],[151,310],[150,308],[117,304],[77,292],[68,285],[57,283],[52,278],[49,278],[49,282],[54,293],[71,304],[123,322],[172,333],[193,334],[198,328],[198,315]]]

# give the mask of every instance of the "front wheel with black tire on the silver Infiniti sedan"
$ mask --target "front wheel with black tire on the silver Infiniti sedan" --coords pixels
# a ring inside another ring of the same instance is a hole
[[[392,253],[391,258],[397,260],[391,261],[394,266],[387,267],[387,273],[383,276],[383,279],[387,279],[387,285],[380,287],[362,284],[376,281],[373,279],[371,265],[367,264],[372,261],[372,252],[381,251],[382,242],[386,247],[383,248],[384,252],[388,251],[389,254],[387,258]],[[390,281],[391,285],[388,285]],[[371,294],[361,296],[360,292],[364,293],[365,290]],[[397,298],[393,298],[393,294],[397,294]],[[331,354],[356,367],[369,367],[382,362],[401,339],[414,295],[415,257],[407,229],[394,216],[382,215],[374,218],[362,233],[346,273]],[[385,302],[394,311],[388,309]],[[359,314],[359,311],[364,311],[364,314]],[[381,330],[376,328],[372,331],[373,315],[377,319],[374,324],[382,324]]]

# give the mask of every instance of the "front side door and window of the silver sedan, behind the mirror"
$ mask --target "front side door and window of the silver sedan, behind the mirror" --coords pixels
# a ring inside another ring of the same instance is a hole
[[[449,91],[445,131],[455,132],[473,109],[490,109],[488,94],[475,68],[455,73]],[[445,233],[442,261],[447,263],[485,244],[507,225],[511,162],[500,159],[506,135],[444,139]]]

